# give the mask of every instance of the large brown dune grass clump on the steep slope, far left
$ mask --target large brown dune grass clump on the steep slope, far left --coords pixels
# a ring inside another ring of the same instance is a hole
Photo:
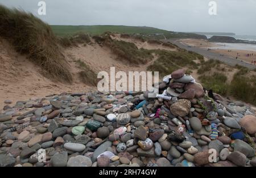
[[[51,27],[32,14],[0,5],[0,36],[9,40],[17,52],[27,54],[52,79],[72,82],[67,61]]]

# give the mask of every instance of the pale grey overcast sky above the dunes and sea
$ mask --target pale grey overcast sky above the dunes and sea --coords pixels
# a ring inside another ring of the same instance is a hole
[[[0,0],[0,4],[22,8],[55,25],[110,24],[256,35],[256,0],[216,0],[217,15],[209,15],[210,1],[45,0],[46,15],[42,16],[38,15],[39,0]]]

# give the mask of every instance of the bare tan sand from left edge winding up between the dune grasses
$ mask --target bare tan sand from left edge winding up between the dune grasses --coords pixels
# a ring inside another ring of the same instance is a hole
[[[96,73],[99,71],[109,73],[112,66],[115,67],[115,72],[146,71],[147,66],[156,60],[154,58],[146,64],[132,66],[130,63],[118,60],[118,57],[110,49],[98,44],[68,48],[65,49],[64,54],[71,65],[74,79],[72,84],[53,82],[43,77],[38,66],[29,61],[26,56],[15,52],[7,41],[0,39],[0,111],[6,105],[4,101],[7,99],[12,100],[15,104],[18,100],[43,98],[61,92],[96,90],[96,87],[89,87],[80,82],[77,75],[80,69],[77,68],[75,62],[77,60],[87,63]]]

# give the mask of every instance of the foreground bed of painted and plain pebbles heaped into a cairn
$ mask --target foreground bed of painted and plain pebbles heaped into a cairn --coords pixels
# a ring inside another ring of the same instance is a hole
[[[164,87],[170,100],[148,92],[6,100],[0,166],[256,166],[255,107],[210,98],[182,69]]]

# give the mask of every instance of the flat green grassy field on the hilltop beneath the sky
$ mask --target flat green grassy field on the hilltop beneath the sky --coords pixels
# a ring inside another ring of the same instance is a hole
[[[57,36],[72,36],[78,32],[89,33],[90,35],[101,35],[104,32],[117,32],[117,33],[127,33],[140,35],[154,35],[156,33],[163,34],[166,38],[182,38],[182,37],[194,37],[194,38],[204,38],[202,35],[197,35],[195,33],[181,33],[166,31],[164,29],[158,29],[153,27],[133,27],[133,26],[51,26],[53,32]],[[164,39],[163,35],[155,36],[156,39]]]

